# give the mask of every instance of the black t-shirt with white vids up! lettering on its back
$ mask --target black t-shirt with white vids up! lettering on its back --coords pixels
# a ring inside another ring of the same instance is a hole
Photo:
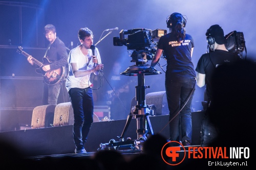
[[[158,42],[158,48],[164,51],[167,60],[166,76],[181,76],[186,71],[191,77],[196,77],[194,64],[191,61],[191,48],[194,40],[186,34],[185,40],[178,42],[174,34],[162,36]]]

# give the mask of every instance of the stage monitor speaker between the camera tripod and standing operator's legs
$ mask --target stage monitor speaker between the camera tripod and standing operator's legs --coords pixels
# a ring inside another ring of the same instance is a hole
[[[169,114],[166,92],[158,91],[146,94],[146,105],[155,105],[155,115],[166,115]]]

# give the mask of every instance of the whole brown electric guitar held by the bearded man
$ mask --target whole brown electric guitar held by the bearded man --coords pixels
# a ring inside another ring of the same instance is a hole
[[[27,54],[26,52],[23,51],[23,48],[21,46],[18,46],[17,53],[23,54],[27,58],[30,56],[29,54]],[[49,65],[49,64],[53,63],[53,62],[50,62],[48,60],[48,58],[45,58],[45,57],[42,58],[43,62],[41,63],[41,62],[39,62],[38,60],[36,60],[35,58],[32,57],[32,61],[34,61],[34,63],[39,66],[39,68],[35,69],[35,72],[37,74],[41,74],[42,76],[44,76],[44,81],[48,85],[57,84],[62,79],[62,77],[64,76],[64,73],[65,73],[65,67],[64,66],[62,66],[58,69],[55,69],[55,70],[52,69],[52,70],[48,70],[48,71],[44,71],[42,69],[42,67],[44,67],[45,65]]]

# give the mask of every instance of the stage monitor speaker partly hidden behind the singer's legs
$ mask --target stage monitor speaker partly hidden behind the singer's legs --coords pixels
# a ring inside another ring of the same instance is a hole
[[[99,122],[98,116],[93,113],[93,122]],[[71,102],[60,103],[54,112],[53,126],[66,126],[74,124],[74,111]]]

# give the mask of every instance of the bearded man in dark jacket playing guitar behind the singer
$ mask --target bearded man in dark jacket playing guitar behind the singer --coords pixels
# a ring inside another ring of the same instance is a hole
[[[65,44],[56,36],[56,29],[53,25],[46,25],[44,32],[46,39],[49,41],[46,57],[49,60],[48,65],[44,65],[42,70],[49,71],[58,69],[68,64],[68,53]],[[28,57],[28,62],[35,65],[32,56]],[[58,96],[61,88],[61,83],[49,85],[44,82],[44,89],[42,93],[42,105],[57,105]]]

